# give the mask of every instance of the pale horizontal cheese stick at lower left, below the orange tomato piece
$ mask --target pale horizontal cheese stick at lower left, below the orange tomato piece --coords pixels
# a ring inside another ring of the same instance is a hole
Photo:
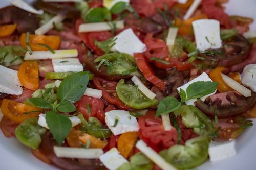
[[[53,151],[60,158],[98,159],[103,154],[103,150],[99,148],[84,149],[54,146]]]

